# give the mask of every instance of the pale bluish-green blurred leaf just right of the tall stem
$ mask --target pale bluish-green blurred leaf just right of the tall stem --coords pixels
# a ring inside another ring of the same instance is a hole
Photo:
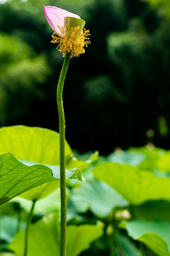
[[[94,178],[73,188],[71,201],[75,212],[84,213],[90,209],[100,218],[107,217],[115,207],[128,206],[128,201],[111,186]]]

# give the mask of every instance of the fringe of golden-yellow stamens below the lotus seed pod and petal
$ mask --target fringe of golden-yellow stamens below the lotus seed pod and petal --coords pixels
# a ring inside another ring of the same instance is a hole
[[[51,43],[58,43],[57,49],[63,57],[70,52],[71,57],[79,57],[81,53],[85,53],[84,46],[87,47],[91,43],[89,30],[82,30],[79,26],[69,29],[69,24],[59,28],[61,34],[54,32]]]

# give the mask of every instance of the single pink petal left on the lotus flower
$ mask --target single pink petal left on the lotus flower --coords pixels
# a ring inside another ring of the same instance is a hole
[[[45,17],[47,18],[47,22],[53,31],[60,34],[60,29],[58,26],[64,26],[64,17],[74,17],[80,18],[77,14],[72,14],[69,11],[65,11],[63,9],[57,8],[55,6],[43,6]]]

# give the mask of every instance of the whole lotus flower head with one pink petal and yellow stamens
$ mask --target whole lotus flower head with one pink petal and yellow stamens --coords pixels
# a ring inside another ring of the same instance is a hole
[[[89,31],[84,29],[85,21],[77,14],[57,8],[55,6],[43,6],[47,22],[53,31],[52,43],[58,43],[57,49],[65,56],[71,53],[71,57],[78,57],[85,53],[84,46],[88,46]]]

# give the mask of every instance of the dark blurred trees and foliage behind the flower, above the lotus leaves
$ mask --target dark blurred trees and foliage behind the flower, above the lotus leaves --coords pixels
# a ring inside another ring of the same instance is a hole
[[[72,59],[64,87],[72,148],[108,154],[116,146],[150,141],[169,148],[169,0],[1,4],[0,126],[57,130],[56,86],[63,58],[50,44],[43,4],[79,14],[91,31],[91,45]]]

